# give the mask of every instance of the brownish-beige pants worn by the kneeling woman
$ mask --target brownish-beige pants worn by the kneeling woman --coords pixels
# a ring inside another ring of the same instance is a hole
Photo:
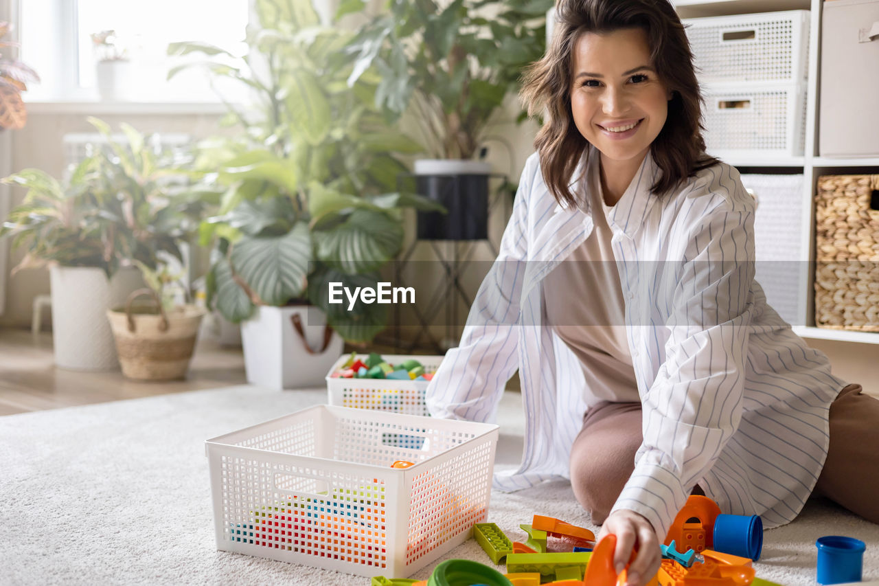
[[[577,500],[602,524],[635,469],[641,445],[641,404],[603,401],[583,418],[570,450]],[[879,400],[848,385],[830,407],[830,450],[813,494],[879,523]],[[701,494],[699,487],[694,493]]]

